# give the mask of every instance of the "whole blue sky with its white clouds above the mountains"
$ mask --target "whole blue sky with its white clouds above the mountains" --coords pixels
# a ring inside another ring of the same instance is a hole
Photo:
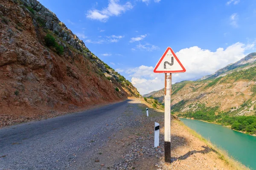
[[[255,0],[39,0],[141,94],[164,87],[154,66],[170,46],[186,68],[212,74],[255,51]]]

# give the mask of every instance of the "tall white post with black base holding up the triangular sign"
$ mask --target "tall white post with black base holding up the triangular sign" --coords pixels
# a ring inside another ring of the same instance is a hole
[[[171,91],[172,73],[165,74],[165,96],[164,96],[164,159],[171,163]]]

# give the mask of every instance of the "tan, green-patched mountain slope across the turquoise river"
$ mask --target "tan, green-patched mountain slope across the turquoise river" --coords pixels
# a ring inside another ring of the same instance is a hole
[[[256,53],[249,54],[239,62],[254,60]],[[239,63],[237,62],[237,63]],[[248,62],[247,62],[248,63]],[[256,66],[250,65],[224,72],[215,79],[184,81],[172,85],[172,112],[194,113],[196,111],[227,113],[230,116],[256,114]],[[224,70],[224,69],[222,69]],[[151,96],[164,102],[164,90]]]

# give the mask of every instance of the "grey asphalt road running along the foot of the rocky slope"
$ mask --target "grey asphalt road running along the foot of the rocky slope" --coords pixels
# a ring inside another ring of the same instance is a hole
[[[0,170],[70,169],[116,130],[128,102],[0,129]]]

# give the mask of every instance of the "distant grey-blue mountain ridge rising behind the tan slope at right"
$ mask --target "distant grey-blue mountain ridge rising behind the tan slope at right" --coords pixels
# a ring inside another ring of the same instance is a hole
[[[201,79],[198,79],[198,80],[214,79],[218,76],[224,76],[224,75],[230,74],[235,69],[240,70],[240,69],[242,69],[246,66],[251,66],[252,67],[254,65],[256,65],[256,53],[250,53],[246,57],[239,60],[238,62],[235,62],[233,64],[229,64],[226,67],[219,69],[214,74],[204,76],[204,77],[202,77]]]

